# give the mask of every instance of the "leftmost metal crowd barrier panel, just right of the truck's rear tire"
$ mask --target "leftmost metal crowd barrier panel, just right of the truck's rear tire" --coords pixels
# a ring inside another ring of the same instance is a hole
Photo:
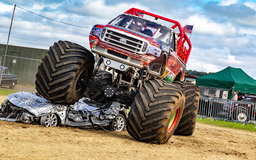
[[[199,106],[197,111],[197,117],[207,118],[209,117],[211,99],[208,97],[199,97]]]

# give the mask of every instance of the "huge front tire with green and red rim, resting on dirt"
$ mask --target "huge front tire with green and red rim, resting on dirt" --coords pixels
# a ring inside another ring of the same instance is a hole
[[[185,97],[174,84],[151,79],[136,95],[126,121],[128,133],[136,140],[164,144],[179,124]]]

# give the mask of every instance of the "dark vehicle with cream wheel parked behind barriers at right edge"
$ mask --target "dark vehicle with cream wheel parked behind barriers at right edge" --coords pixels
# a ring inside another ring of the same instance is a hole
[[[249,122],[250,120],[255,120],[255,103],[255,95],[245,96],[241,101],[229,101],[225,103],[219,114],[225,115],[228,119],[235,121]]]

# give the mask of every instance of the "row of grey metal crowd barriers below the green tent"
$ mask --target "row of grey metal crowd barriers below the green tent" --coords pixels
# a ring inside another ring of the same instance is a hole
[[[197,117],[256,125],[255,112],[256,104],[251,102],[200,97]]]

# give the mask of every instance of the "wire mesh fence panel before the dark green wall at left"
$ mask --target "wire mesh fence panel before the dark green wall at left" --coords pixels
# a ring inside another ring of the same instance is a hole
[[[5,61],[4,61],[5,58]],[[41,60],[15,57],[2,55],[0,59],[0,65],[7,67],[9,70],[9,75],[17,75],[19,77],[18,84],[15,86],[14,90],[16,91],[26,91],[26,92],[36,92],[35,91],[35,80],[37,67],[39,66]],[[2,76],[3,79],[3,76]],[[4,81],[1,83],[3,88],[12,88],[4,84]]]

